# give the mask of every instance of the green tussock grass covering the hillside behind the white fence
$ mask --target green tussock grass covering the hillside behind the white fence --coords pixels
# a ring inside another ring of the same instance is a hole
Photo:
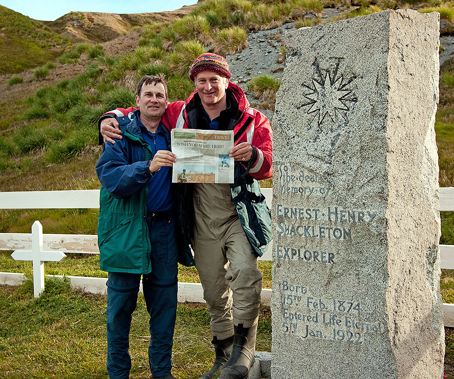
[[[439,11],[443,21],[442,33],[449,33],[454,21],[452,3],[426,2],[416,5],[421,12]],[[327,6],[341,11],[339,16],[323,18],[323,9]],[[389,1],[374,2],[372,5],[369,0],[354,0],[353,3],[348,0],[205,0],[190,14],[173,21],[136,17],[134,29],[140,37],[135,49],[123,55],[109,55],[106,48],[109,42],[70,45],[59,58],[61,67],[76,62],[85,67],[82,74],[46,85],[46,75],[51,76],[52,70],[46,74],[44,69],[42,78],[33,79],[34,85],[39,87],[35,92],[24,90],[23,99],[13,107],[8,102],[8,92],[3,104],[0,102],[3,115],[0,120],[0,191],[97,188],[99,184],[93,169],[100,154],[96,146],[96,119],[106,110],[133,105],[134,87],[143,74],[163,72],[168,79],[169,100],[184,99],[193,90],[188,68],[194,58],[208,50],[220,54],[241,51],[247,43],[246,32],[272,28],[288,21],[294,21],[297,26],[315,25],[370,14],[388,7],[408,6],[408,3]],[[45,28],[32,32],[38,22],[19,17],[5,7],[1,9],[5,15],[10,14],[9,19],[16,17],[18,25],[23,25],[16,28],[22,30],[18,35],[42,41],[42,46],[45,41],[51,40],[51,36],[54,40],[58,39]],[[147,24],[140,24],[140,20],[145,20]],[[13,22],[10,23],[4,30],[12,30]],[[124,38],[126,40],[128,35]],[[280,38],[276,37],[277,41],[280,42]],[[280,50],[285,53],[283,46]],[[453,78],[454,63],[451,59],[441,67],[440,107],[436,122],[441,186],[454,186]],[[254,84],[263,89],[260,80],[251,80],[250,84],[251,88]],[[17,84],[10,84],[10,88],[25,85],[26,82],[20,83],[18,79]],[[276,88],[276,83],[271,82],[270,88],[265,90],[275,91]],[[257,88],[254,91],[257,97],[261,96]],[[0,212],[0,231],[29,230],[33,212],[17,213],[23,222],[11,223],[9,220],[17,220],[17,217],[11,218],[10,212]],[[75,217],[76,225],[84,224],[78,222],[78,216]],[[53,221],[44,225],[46,232],[65,232],[63,229],[68,225],[61,220],[59,212],[54,212],[49,220]],[[443,238],[454,235],[449,231],[454,228],[452,222],[447,221],[447,224]],[[79,232],[94,233],[95,227],[94,218],[89,227]]]

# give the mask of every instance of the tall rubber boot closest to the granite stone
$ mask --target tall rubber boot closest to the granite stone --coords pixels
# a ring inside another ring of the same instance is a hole
[[[234,328],[232,356],[222,368],[219,379],[246,379],[249,369],[254,364],[257,324],[251,327],[243,327],[243,324],[239,324],[234,325]]]

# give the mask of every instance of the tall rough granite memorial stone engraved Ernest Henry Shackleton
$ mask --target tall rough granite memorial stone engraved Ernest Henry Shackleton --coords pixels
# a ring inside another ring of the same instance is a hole
[[[287,34],[273,118],[273,379],[442,377],[439,14]]]

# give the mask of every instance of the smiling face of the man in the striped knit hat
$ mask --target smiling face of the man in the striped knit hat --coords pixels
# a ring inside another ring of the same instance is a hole
[[[201,71],[195,76],[196,89],[203,106],[216,106],[225,100],[229,79],[214,71]]]

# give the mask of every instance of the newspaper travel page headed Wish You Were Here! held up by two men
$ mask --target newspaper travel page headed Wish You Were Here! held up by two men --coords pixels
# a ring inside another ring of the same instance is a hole
[[[233,130],[172,129],[172,182],[233,183]]]

